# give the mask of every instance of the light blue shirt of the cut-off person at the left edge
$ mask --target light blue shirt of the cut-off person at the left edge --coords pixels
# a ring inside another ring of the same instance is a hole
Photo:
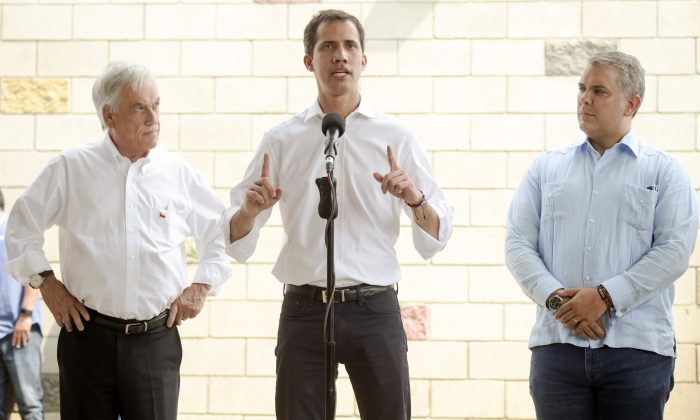
[[[0,338],[12,334],[24,297],[24,286],[5,272],[5,227],[7,214],[0,213]],[[37,300],[32,323],[39,324],[41,302]]]

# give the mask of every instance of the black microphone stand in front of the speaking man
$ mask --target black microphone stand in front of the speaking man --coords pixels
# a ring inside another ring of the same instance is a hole
[[[335,311],[333,308],[335,298],[335,264],[334,264],[334,220],[338,216],[338,203],[336,202],[336,180],[333,178],[333,169],[330,169],[325,177],[316,179],[316,186],[321,195],[318,204],[318,214],[326,219],[326,313],[323,322],[323,338],[325,344],[325,407],[326,420],[335,418],[336,388],[335,388]]]

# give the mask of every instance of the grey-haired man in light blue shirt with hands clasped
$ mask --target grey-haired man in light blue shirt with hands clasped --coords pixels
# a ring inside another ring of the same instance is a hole
[[[537,158],[511,203],[506,263],[538,305],[540,420],[662,419],[673,388],[673,282],[698,209],[678,160],[631,131],[643,97],[636,58],[590,58],[577,104],[587,138]]]

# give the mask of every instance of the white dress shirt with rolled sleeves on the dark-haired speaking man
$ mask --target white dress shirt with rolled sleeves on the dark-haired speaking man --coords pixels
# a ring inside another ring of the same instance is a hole
[[[277,205],[284,239],[272,270],[283,283],[326,285],[326,220],[318,215],[319,192],[315,184],[316,178],[325,176],[323,116],[315,102],[265,133],[243,181],[231,191],[231,208],[224,215],[227,252],[237,261],[245,262],[255,251],[260,228],[272,209],[261,212],[253,229],[233,243],[229,239],[229,222],[241,207],[250,185],[260,178],[263,154],[268,153],[270,180],[283,190]],[[399,236],[402,209],[412,221],[416,250],[428,259],[445,247],[452,233],[452,207],[435,181],[417,136],[396,118],[374,110],[363,101],[346,118],[345,134],[337,145],[336,285],[395,283],[401,278],[394,245]],[[435,209],[440,221],[438,240],[417,225],[413,212],[403,201],[383,194],[372,176],[374,172],[389,172],[387,145],[391,146],[399,167]]]

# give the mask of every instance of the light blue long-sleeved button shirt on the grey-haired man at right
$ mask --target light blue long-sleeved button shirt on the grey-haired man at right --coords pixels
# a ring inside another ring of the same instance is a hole
[[[601,157],[588,141],[530,166],[508,212],[506,264],[538,304],[529,346],[570,343],[675,356],[673,282],[698,229],[677,159],[631,131]],[[560,288],[603,284],[615,305],[602,340],[577,337],[544,308]]]

